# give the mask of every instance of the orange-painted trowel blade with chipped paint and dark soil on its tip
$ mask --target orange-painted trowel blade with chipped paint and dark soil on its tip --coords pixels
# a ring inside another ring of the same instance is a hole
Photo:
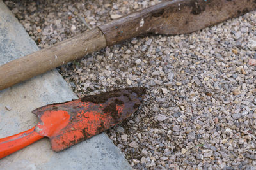
[[[146,90],[142,87],[105,92],[82,99],[38,108],[36,132],[51,139],[59,152],[106,131],[138,109]]]

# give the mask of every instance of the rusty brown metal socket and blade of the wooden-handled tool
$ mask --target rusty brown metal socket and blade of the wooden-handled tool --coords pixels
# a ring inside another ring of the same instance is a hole
[[[188,34],[256,9],[255,0],[173,0],[100,25],[108,46],[141,34]]]

